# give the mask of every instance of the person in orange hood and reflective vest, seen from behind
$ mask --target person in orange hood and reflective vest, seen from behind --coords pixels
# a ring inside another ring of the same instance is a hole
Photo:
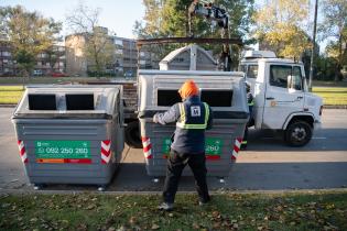
[[[166,178],[163,189],[162,210],[172,210],[182,170],[189,165],[203,206],[210,200],[206,183],[205,130],[212,128],[213,111],[199,99],[199,90],[193,80],[185,81],[178,90],[183,102],[175,103],[164,113],[156,113],[153,122],[176,122],[167,158]]]

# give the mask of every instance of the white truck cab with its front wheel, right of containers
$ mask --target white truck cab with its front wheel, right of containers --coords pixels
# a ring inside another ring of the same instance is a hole
[[[321,124],[323,100],[308,92],[303,64],[276,58],[268,51],[248,51],[240,70],[254,97],[250,124],[283,131],[284,141],[292,146],[308,143]]]

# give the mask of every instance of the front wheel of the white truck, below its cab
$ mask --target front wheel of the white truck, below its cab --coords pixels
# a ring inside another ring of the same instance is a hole
[[[291,123],[284,133],[284,141],[291,146],[304,146],[311,141],[312,127],[305,121]]]

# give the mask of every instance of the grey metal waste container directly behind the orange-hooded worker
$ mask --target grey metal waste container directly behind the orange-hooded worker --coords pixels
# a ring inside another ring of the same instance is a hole
[[[156,124],[152,118],[181,101],[177,90],[186,79],[194,79],[202,101],[207,102],[214,112],[213,129],[206,131],[207,175],[226,177],[237,158],[249,118],[243,73],[139,72],[139,120],[147,172],[153,177],[165,175],[175,124]],[[183,174],[192,175],[188,168]]]

